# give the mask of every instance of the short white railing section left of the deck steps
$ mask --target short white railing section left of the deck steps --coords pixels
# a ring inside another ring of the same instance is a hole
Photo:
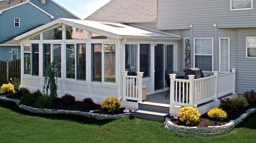
[[[127,76],[123,71],[123,100],[134,100],[142,103],[142,77],[144,72],[137,72],[138,76]]]

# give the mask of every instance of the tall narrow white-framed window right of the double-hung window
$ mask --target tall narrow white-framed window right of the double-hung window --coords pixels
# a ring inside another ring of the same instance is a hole
[[[219,72],[229,72],[230,38],[219,38]]]

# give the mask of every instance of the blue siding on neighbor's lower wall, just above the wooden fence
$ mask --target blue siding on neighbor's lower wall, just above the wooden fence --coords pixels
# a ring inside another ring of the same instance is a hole
[[[9,51],[11,49],[18,49],[18,58],[21,58],[21,47],[20,46],[0,46],[0,60],[1,61],[11,61],[11,54]]]

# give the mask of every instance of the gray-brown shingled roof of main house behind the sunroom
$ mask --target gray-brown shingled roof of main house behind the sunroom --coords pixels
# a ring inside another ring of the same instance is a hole
[[[117,23],[156,22],[156,0],[111,0],[85,20]]]

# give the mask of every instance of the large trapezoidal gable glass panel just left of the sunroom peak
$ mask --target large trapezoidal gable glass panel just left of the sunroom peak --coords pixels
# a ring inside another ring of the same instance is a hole
[[[62,26],[43,33],[44,40],[62,40]]]

